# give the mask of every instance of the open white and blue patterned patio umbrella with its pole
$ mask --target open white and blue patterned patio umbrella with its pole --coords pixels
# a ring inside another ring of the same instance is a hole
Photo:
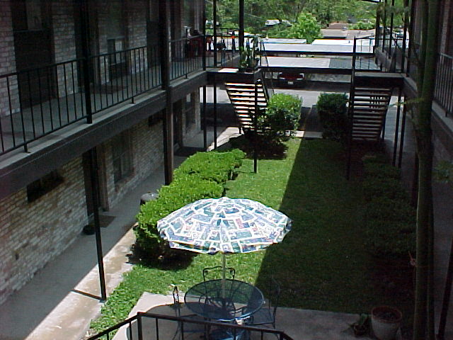
[[[206,198],[185,205],[157,222],[171,248],[222,256],[248,253],[281,242],[291,229],[282,212],[246,198]]]

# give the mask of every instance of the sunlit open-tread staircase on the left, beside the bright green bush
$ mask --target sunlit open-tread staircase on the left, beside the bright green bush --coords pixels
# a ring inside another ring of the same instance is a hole
[[[257,81],[255,84],[225,83],[225,88],[236,112],[239,129],[242,131],[254,130],[253,117],[256,108],[262,110],[268,106],[268,94],[261,81]]]

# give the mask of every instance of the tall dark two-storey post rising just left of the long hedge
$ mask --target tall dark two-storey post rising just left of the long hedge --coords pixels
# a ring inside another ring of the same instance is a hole
[[[169,5],[167,0],[159,0],[159,45],[161,62],[162,89],[166,91],[166,106],[164,109],[164,174],[166,185],[173,181],[173,106],[171,104],[170,89],[170,38],[169,32]]]

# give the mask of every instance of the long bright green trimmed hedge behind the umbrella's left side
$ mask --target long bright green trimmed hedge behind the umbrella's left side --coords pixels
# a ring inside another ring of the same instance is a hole
[[[198,152],[186,159],[175,170],[174,181],[159,190],[159,197],[140,208],[138,225],[134,229],[135,249],[140,257],[168,262],[193,256],[190,251],[171,249],[159,236],[157,221],[195,200],[222,197],[222,184],[231,178],[244,157],[241,150],[234,149],[230,152]]]

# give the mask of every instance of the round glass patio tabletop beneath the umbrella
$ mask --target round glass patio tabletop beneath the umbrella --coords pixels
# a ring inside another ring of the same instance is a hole
[[[195,314],[235,322],[257,312],[264,303],[261,290],[240,280],[207,280],[189,288],[185,305]]]

